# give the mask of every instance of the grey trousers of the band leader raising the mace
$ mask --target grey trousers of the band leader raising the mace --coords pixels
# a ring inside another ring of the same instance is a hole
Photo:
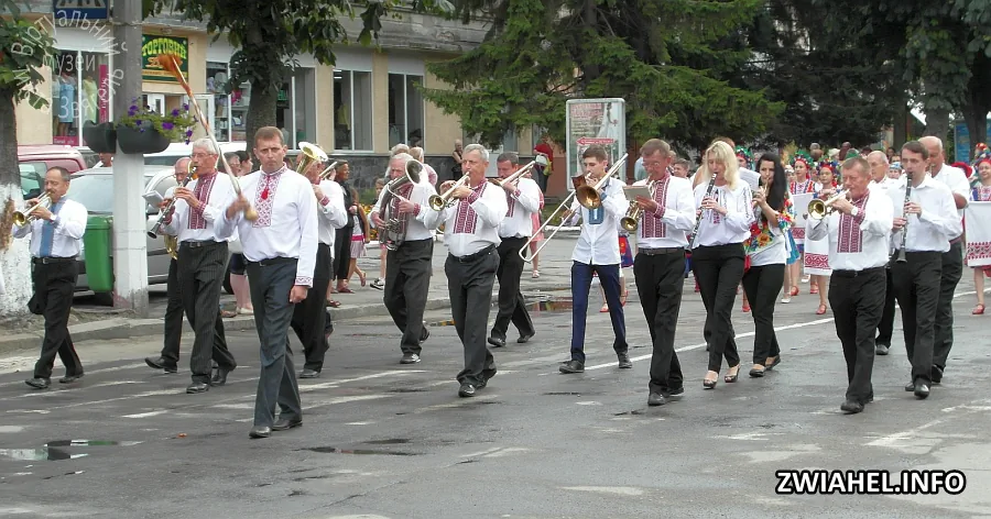
[[[294,305],[288,298],[296,280],[296,260],[249,262],[248,278],[251,279],[251,303],[254,306],[254,327],[261,349],[254,424],[271,427],[275,422],[276,404],[282,418],[295,420],[303,417],[287,335],[293,319]]]

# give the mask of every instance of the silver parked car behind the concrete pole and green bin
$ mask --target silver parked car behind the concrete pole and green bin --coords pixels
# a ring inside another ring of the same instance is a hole
[[[165,191],[175,186],[173,168],[144,166],[144,185],[145,189],[142,194],[154,189],[164,198]],[[113,168],[95,167],[76,173],[73,175],[69,184],[68,196],[86,206],[86,210],[90,216],[112,216]],[[146,229],[151,230],[159,220],[159,208],[146,205],[145,213],[148,214]],[[148,284],[165,283],[168,278],[168,263],[171,261],[168,253],[165,252],[165,241],[161,235],[155,239],[146,238],[145,240],[148,243]],[[85,257],[86,251],[84,250],[79,254],[79,278],[76,281],[77,292],[89,290],[89,285],[86,280]],[[112,302],[109,292],[99,292],[97,298],[99,303]]]

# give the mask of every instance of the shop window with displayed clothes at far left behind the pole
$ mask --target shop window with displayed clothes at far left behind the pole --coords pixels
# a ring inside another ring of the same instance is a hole
[[[59,51],[52,77],[53,144],[86,145],[83,126],[110,120],[110,56]]]

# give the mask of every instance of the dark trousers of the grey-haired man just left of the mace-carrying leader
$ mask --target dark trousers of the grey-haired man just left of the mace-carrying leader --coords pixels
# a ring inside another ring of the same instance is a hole
[[[227,349],[224,324],[217,322],[220,318],[220,290],[224,288],[229,254],[227,242],[195,245],[198,246],[189,242],[179,243],[178,280],[183,310],[196,335],[193,340],[193,353],[189,355],[189,371],[193,373],[193,382],[209,384],[211,360],[225,369],[233,369],[238,365]]]

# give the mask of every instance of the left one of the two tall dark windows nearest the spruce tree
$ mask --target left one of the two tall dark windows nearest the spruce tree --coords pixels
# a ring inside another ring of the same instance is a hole
[[[371,73],[334,70],[334,147],[372,150]]]

